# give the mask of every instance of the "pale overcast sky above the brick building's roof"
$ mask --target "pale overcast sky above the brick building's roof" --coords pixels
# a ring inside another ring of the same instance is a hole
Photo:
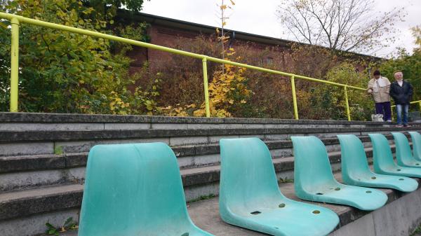
[[[218,24],[217,3],[220,1],[151,0],[145,1],[142,12],[217,27],[220,25]],[[235,0],[235,3],[234,10],[229,12],[230,18],[227,20],[226,26],[228,29],[293,40],[293,36],[282,29],[276,17],[279,0]],[[403,47],[411,51],[415,46],[410,27],[421,25],[421,0],[375,0],[376,11],[390,11],[395,6],[405,7],[408,15],[405,22],[396,24],[396,27],[401,29],[396,43],[377,51],[375,55],[379,57],[389,57],[396,52],[396,47]]]

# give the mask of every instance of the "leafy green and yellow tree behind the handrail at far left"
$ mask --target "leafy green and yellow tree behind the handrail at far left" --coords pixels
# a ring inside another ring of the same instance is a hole
[[[0,11],[61,25],[113,32],[145,40],[146,25],[112,29],[114,22],[78,0],[5,1]],[[95,15],[95,18],[92,16]],[[10,22],[0,25],[0,109],[8,110]],[[133,33],[136,32],[136,33]],[[20,26],[20,111],[60,113],[143,113],[152,111],[156,95],[133,85],[128,74],[130,47],[104,39],[44,27]],[[113,54],[117,51],[119,53]]]

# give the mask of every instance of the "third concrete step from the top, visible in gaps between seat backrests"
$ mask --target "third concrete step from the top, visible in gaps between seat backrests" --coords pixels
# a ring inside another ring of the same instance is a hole
[[[364,146],[371,146],[367,136],[360,138]],[[387,138],[392,144],[392,135],[388,134]],[[321,140],[328,151],[340,151],[337,138]],[[266,141],[266,144],[276,159],[293,155],[290,140]],[[174,146],[173,151],[181,169],[219,165],[220,162],[218,144]],[[60,183],[83,183],[87,156],[88,153],[65,153],[0,157],[0,193]]]

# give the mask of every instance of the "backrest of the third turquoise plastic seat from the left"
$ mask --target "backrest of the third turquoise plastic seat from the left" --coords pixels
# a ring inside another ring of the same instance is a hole
[[[314,136],[291,137],[294,152],[294,186],[296,190],[313,192],[320,186],[337,183],[326,147]]]

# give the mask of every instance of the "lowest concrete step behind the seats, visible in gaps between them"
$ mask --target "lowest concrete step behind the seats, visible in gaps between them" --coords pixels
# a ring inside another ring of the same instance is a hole
[[[366,148],[366,153],[370,157],[372,149]],[[340,170],[340,152],[329,153],[329,158],[333,171]],[[273,162],[276,175],[281,182],[293,179],[293,157],[275,158]],[[195,201],[208,195],[218,195],[219,165],[182,169],[180,172],[187,201]],[[83,184],[74,183],[0,193],[0,221],[79,207],[82,192]]]

